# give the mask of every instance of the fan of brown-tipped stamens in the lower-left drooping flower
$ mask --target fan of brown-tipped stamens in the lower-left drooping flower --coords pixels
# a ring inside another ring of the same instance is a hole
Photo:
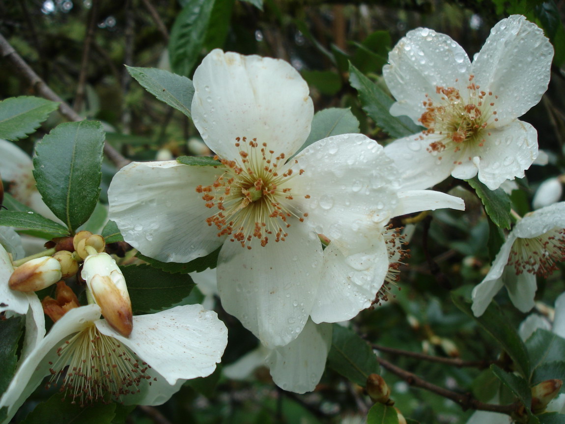
[[[99,332],[94,323],[67,340],[57,355],[54,363],[49,362],[52,377],[47,387],[57,384],[68,365],[60,391],[70,393],[72,403],[119,401],[123,395],[139,392],[142,381],[151,379],[145,374],[149,365],[138,361],[118,340]]]

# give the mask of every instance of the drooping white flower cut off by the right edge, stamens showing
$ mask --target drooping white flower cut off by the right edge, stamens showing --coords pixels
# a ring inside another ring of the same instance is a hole
[[[565,202],[533,211],[516,223],[483,282],[473,289],[473,313],[482,315],[503,285],[512,303],[534,306],[536,275],[547,276],[565,260]]]

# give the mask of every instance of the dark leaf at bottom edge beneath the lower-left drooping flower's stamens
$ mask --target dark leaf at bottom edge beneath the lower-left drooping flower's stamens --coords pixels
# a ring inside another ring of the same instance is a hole
[[[71,396],[63,399],[62,393],[55,393],[45,402],[37,405],[21,424],[111,424],[116,404],[72,403]]]

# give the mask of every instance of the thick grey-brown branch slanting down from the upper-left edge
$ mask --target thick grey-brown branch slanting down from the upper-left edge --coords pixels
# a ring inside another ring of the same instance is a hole
[[[82,117],[68,105],[68,103],[64,102],[63,99],[51,90],[49,85],[47,85],[45,81],[33,71],[18,52],[14,50],[14,47],[12,47],[6,38],[2,36],[2,34],[0,34],[0,55],[12,63],[12,65],[16,68],[16,71],[18,71],[18,74],[28,81],[34,92],[36,92],[39,96],[44,97],[47,100],[59,102],[59,113],[61,115],[74,122],[83,120]],[[108,142],[105,142],[104,144],[104,153],[110,161],[114,162],[114,165],[116,165],[118,169],[130,162],[129,159],[124,158],[118,150],[114,149],[110,144],[108,144]]]

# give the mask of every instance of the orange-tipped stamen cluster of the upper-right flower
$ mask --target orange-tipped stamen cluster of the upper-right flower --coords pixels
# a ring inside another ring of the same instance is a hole
[[[441,153],[445,149],[459,152],[467,147],[484,145],[484,129],[490,123],[490,116],[497,114],[492,108],[494,99],[498,97],[492,92],[480,90],[480,86],[473,83],[473,78],[473,75],[469,77],[466,96],[454,87],[437,86],[436,93],[441,95],[441,99],[436,104],[426,94],[426,110],[418,119],[426,128],[421,137],[431,134],[444,136],[431,142],[428,152]],[[494,121],[497,122],[498,118],[495,117]],[[462,162],[455,163],[460,165]]]

